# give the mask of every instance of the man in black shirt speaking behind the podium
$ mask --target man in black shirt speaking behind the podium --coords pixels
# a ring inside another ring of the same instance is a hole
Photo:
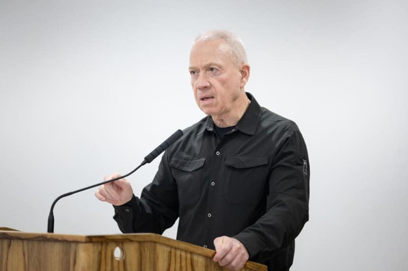
[[[189,71],[208,116],[168,148],[140,198],[124,179],[95,196],[114,205],[122,232],[161,234],[180,217],[177,239],[215,249],[221,266],[236,270],[249,259],[288,270],[309,219],[310,170],[299,129],[245,93],[250,67],[235,35],[199,36]]]

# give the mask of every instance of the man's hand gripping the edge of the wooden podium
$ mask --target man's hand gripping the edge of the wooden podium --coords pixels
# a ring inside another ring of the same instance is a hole
[[[214,239],[215,256],[213,260],[232,270],[241,269],[249,259],[249,254],[244,245],[237,239],[221,236]]]

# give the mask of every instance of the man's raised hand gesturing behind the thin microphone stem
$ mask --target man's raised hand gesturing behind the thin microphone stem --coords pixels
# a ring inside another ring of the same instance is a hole
[[[120,177],[119,173],[113,173],[111,175],[105,176],[104,180],[110,180],[113,178]],[[133,189],[126,179],[118,179],[115,182],[101,185],[95,191],[95,197],[100,201],[106,201],[113,205],[119,206],[128,201],[133,197]]]

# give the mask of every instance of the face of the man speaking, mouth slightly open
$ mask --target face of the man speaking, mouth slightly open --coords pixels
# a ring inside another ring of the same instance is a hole
[[[190,52],[189,70],[198,107],[213,117],[227,115],[245,83],[224,41],[196,43]]]

